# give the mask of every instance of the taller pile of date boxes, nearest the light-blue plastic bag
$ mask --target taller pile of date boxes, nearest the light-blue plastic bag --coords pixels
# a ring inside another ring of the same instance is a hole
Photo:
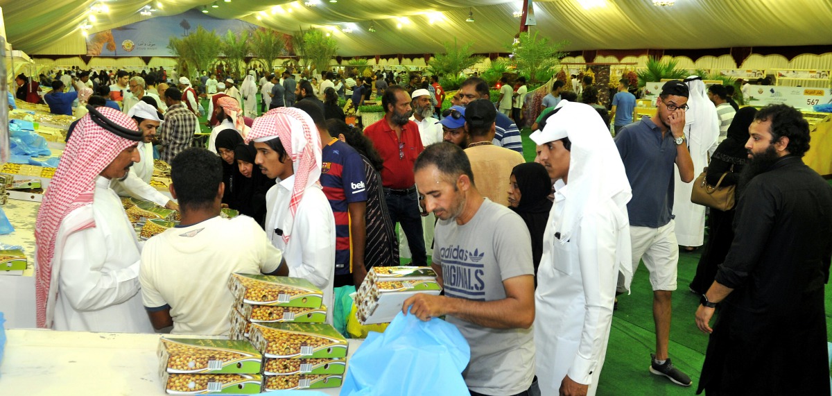
[[[264,391],[337,388],[347,340],[324,324],[324,294],[308,280],[233,274],[231,339],[250,339],[263,354]]]

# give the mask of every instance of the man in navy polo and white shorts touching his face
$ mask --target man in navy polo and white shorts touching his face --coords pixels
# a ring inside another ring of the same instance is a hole
[[[690,386],[691,379],[671,364],[668,344],[671,333],[671,293],[676,290],[679,248],[673,222],[673,166],[681,181],[693,181],[693,161],[685,144],[685,111],[689,91],[685,83],[671,80],[661,87],[656,115],[624,126],[616,135],[632,199],[627,203],[632,245],[632,273],[639,260],[650,271],[653,288],[653,320],[656,323],[656,354],[650,372],[664,375],[674,384]],[[619,293],[622,282],[619,281]]]

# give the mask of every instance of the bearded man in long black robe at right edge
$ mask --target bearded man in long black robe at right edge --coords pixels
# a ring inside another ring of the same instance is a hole
[[[800,159],[810,141],[800,111],[770,105],[754,119],[734,240],[696,310],[711,334],[697,394],[828,395],[832,188]]]

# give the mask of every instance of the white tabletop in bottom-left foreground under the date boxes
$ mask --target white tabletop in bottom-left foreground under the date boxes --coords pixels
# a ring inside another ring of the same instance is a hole
[[[0,365],[4,395],[164,395],[156,348],[159,334],[6,331]],[[363,340],[349,340],[349,358]],[[337,395],[339,388],[315,389]]]

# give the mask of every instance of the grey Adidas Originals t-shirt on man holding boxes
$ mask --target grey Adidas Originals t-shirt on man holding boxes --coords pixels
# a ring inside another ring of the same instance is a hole
[[[503,205],[483,202],[464,225],[439,220],[433,263],[442,266],[445,295],[494,301],[506,298],[503,280],[533,275],[532,240],[522,218]],[[471,346],[465,384],[480,394],[519,394],[534,377],[529,329],[488,329],[447,316]]]

